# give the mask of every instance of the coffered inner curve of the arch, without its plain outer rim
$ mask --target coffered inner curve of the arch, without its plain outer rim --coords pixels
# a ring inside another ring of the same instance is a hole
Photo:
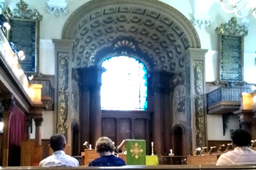
[[[190,46],[180,25],[171,18],[135,5],[94,11],[81,19],[74,35],[72,61],[76,67],[97,65],[126,50],[130,56],[136,51],[135,58],[144,61],[147,70],[179,71],[184,67],[183,53]],[[102,49],[106,49],[104,55],[97,53]]]

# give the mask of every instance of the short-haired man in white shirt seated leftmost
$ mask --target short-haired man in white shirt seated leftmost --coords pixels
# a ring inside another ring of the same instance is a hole
[[[62,134],[55,134],[50,138],[50,145],[53,154],[43,159],[39,163],[39,167],[78,167],[77,159],[66,155],[64,148],[66,146],[66,139]]]

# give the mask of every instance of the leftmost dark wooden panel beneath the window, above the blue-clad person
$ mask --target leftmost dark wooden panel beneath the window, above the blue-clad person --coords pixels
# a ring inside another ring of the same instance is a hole
[[[102,118],[102,136],[109,137],[115,142],[115,119]]]

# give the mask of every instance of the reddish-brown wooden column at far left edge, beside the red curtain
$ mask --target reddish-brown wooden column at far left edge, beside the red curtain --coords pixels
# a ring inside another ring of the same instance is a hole
[[[14,105],[13,95],[8,95],[2,101],[3,104],[3,159],[2,166],[8,166],[8,155],[9,155],[9,136],[10,136],[10,118],[11,118],[11,107]]]

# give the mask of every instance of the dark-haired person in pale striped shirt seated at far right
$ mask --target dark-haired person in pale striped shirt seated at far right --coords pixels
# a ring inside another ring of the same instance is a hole
[[[237,129],[232,136],[233,151],[222,154],[216,165],[253,165],[256,164],[256,151],[250,147],[251,134],[244,129]]]

